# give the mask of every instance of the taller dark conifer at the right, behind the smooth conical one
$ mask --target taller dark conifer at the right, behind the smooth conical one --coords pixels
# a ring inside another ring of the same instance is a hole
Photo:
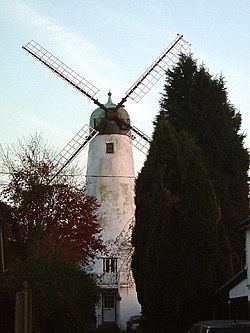
[[[237,270],[244,264],[244,243],[235,226],[249,214],[249,157],[241,115],[228,100],[223,77],[213,78],[192,56],[180,58],[164,88],[161,112],[177,132],[193,136],[205,156]]]

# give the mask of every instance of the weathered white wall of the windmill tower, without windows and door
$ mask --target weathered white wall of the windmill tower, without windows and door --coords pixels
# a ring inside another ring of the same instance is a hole
[[[114,153],[107,154],[106,143],[111,142],[114,143]],[[106,242],[112,243],[134,217],[134,181],[131,139],[121,134],[97,135],[89,146],[87,193],[96,197],[100,204],[99,223]],[[118,271],[121,264],[122,259],[118,258]],[[95,272],[102,273],[101,259],[96,262]],[[129,318],[140,313],[140,305],[134,286],[121,287],[118,291],[121,301],[117,301],[117,323],[125,330]],[[100,309],[97,311],[100,318]]]

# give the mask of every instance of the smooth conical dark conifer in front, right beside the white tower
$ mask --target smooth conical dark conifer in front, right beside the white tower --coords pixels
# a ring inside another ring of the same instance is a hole
[[[199,147],[158,116],[136,181],[132,269],[150,332],[184,332],[211,316],[230,275],[230,246]]]

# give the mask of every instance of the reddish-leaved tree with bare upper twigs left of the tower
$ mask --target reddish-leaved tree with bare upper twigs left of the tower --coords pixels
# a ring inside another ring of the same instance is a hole
[[[11,206],[6,246],[12,254],[38,254],[69,262],[92,259],[102,249],[97,204],[71,178],[48,184],[56,166],[39,136],[21,142],[8,161],[10,181],[3,191]]]

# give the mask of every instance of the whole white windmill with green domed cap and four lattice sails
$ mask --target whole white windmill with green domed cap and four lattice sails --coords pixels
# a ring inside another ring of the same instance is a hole
[[[129,262],[131,257],[126,249],[131,249],[129,242],[135,211],[132,145],[146,154],[150,139],[131,126],[124,103],[127,98],[139,102],[165,71],[177,63],[179,54],[188,48],[183,36],[178,35],[118,104],[112,102],[111,93],[108,102],[101,104],[95,98],[99,90],[94,85],[41,45],[32,40],[23,46],[28,53],[98,105],[90,117],[90,126],[85,125],[57,156],[54,162],[58,164],[59,171],[51,178],[51,181],[55,180],[89,143],[87,191],[100,204],[99,222],[103,240],[107,244],[107,250],[100,254],[94,268],[102,288],[102,302],[97,309],[98,326],[108,322],[125,329],[129,317],[140,311],[135,286],[127,278],[124,262]]]

